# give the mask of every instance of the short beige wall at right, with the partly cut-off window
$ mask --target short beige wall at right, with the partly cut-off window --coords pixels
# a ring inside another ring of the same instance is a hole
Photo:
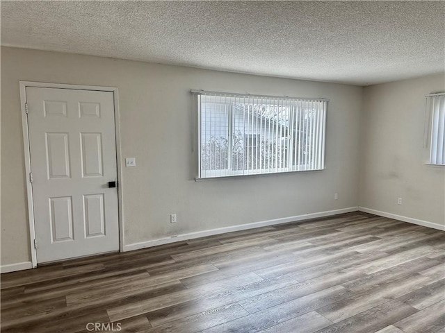
[[[424,96],[444,91],[444,75],[364,88],[360,206],[445,225],[445,168],[423,164]]]

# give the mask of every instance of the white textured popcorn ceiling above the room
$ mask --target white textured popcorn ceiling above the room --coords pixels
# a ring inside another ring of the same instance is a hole
[[[1,1],[1,44],[369,85],[440,73],[444,1]]]

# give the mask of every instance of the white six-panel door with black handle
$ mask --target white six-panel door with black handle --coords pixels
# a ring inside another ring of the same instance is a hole
[[[26,87],[37,261],[119,249],[113,92]]]

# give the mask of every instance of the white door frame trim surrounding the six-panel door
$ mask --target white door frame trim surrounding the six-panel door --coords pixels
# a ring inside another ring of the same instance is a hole
[[[33,206],[33,185],[29,180],[31,172],[31,153],[29,150],[29,128],[28,118],[26,117],[26,87],[40,88],[59,88],[59,89],[76,89],[76,90],[92,90],[99,92],[113,92],[114,99],[114,119],[115,119],[115,137],[116,137],[116,160],[118,165],[118,219],[119,219],[119,250],[124,251],[124,219],[122,207],[122,165],[120,152],[120,122],[119,122],[119,96],[117,87],[98,87],[95,85],[65,85],[62,83],[42,83],[19,81],[20,84],[20,106],[22,110],[22,128],[23,128],[23,144],[25,157],[25,180],[26,194],[28,199],[28,216],[29,216],[29,244],[31,248],[31,262],[33,268],[37,267],[37,250],[34,248],[35,239],[35,223],[34,223],[34,206]]]

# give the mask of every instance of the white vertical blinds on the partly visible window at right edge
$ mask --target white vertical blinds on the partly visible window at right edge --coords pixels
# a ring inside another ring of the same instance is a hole
[[[445,94],[426,96],[430,114],[430,163],[445,165]]]

